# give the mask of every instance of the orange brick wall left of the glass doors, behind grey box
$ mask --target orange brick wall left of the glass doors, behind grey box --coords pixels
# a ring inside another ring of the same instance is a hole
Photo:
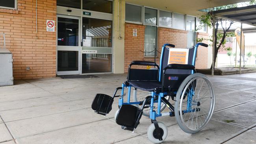
[[[56,0],[37,0],[37,32],[35,2],[18,0],[17,10],[0,9],[0,32],[13,53],[15,79],[56,76],[56,32],[46,32],[46,20],[56,20]]]

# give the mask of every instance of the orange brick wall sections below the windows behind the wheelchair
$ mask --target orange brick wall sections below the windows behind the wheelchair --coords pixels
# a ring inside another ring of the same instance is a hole
[[[137,29],[137,37],[133,37],[133,29]],[[124,72],[127,72],[131,61],[154,61],[154,57],[144,57],[145,26],[139,24],[125,24],[125,62]],[[197,33],[198,38],[207,38],[208,33]],[[207,41],[203,41],[208,43]],[[174,44],[176,48],[187,47],[187,31],[158,27],[158,55],[156,62],[159,64],[163,44]],[[196,58],[196,68],[207,68],[208,48],[199,46]],[[133,68],[146,68],[146,66],[133,66]]]

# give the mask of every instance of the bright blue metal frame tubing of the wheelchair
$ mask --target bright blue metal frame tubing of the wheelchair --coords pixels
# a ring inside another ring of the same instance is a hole
[[[196,57],[196,54],[197,54],[197,48],[199,45],[202,45],[203,43],[197,43],[195,45],[195,49],[194,49],[194,54],[193,54],[193,61],[192,61],[192,65],[195,66],[195,57]],[[162,46],[162,52],[161,52],[161,57],[160,57],[160,68],[158,69],[158,72],[159,72],[159,78],[158,78],[158,81],[161,82],[161,68],[162,68],[162,57],[163,57],[163,50],[165,48],[165,46],[168,46],[168,44],[164,44]],[[164,73],[164,72],[163,72]],[[194,73],[194,70],[192,70],[191,74]],[[124,102],[124,89],[128,87],[128,96],[127,96],[127,102]],[[121,91],[121,96],[119,98],[119,107],[121,107],[122,105],[134,105],[134,104],[139,104],[141,102],[130,102],[130,94],[131,94],[131,88],[133,86],[132,85],[126,85],[124,83],[122,83],[122,87],[120,87],[120,89],[122,88],[122,91]],[[174,94],[176,94],[177,91],[174,92]],[[188,98],[187,98],[187,109],[183,111],[183,113],[190,113],[190,112],[194,112],[196,111],[196,109],[192,109],[192,105],[191,105],[191,101],[193,99],[193,94],[194,94],[194,91],[193,89],[191,88],[191,90],[189,90],[189,93],[188,93]],[[174,107],[173,105],[171,105],[171,103],[169,103],[165,98],[164,96],[167,95],[167,92],[154,92],[152,91],[151,92],[151,96],[148,96],[147,98],[145,98],[145,100],[147,99],[151,99],[151,103],[150,103],[150,119],[151,120],[156,120],[156,117],[160,117],[162,115],[169,115],[169,116],[174,116]],[[155,100],[154,97],[155,96],[158,96],[158,100]],[[167,105],[167,107],[171,110],[171,112],[169,113],[163,113],[161,114],[160,110],[161,110],[161,102],[163,102],[165,105]],[[158,111],[156,113],[156,111],[153,110],[153,107],[154,107],[154,103],[158,103]],[[145,104],[145,103],[144,103]],[[142,105],[142,107],[144,107],[144,105]]]

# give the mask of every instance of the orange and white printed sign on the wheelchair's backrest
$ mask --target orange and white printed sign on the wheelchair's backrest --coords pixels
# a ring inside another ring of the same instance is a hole
[[[169,49],[169,64],[187,64],[188,63],[188,48],[170,48]]]

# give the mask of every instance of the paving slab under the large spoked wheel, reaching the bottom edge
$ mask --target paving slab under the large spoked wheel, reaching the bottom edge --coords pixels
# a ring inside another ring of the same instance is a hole
[[[242,127],[211,120],[204,129],[191,135],[174,125],[168,127],[168,136],[163,144],[220,144],[243,130]]]

